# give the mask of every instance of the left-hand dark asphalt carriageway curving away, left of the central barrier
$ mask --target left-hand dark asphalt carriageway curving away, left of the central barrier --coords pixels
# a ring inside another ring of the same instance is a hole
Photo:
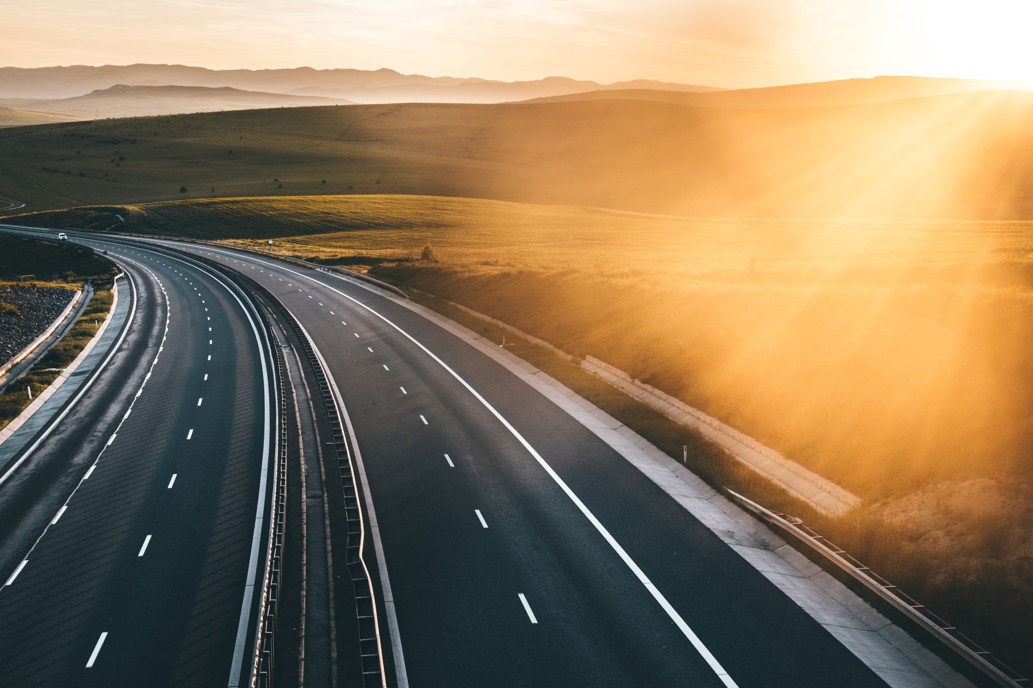
[[[0,683],[224,686],[265,359],[220,282],[162,254],[91,244],[129,274],[137,307],[108,369],[0,485],[0,582],[18,571],[0,587]]]

